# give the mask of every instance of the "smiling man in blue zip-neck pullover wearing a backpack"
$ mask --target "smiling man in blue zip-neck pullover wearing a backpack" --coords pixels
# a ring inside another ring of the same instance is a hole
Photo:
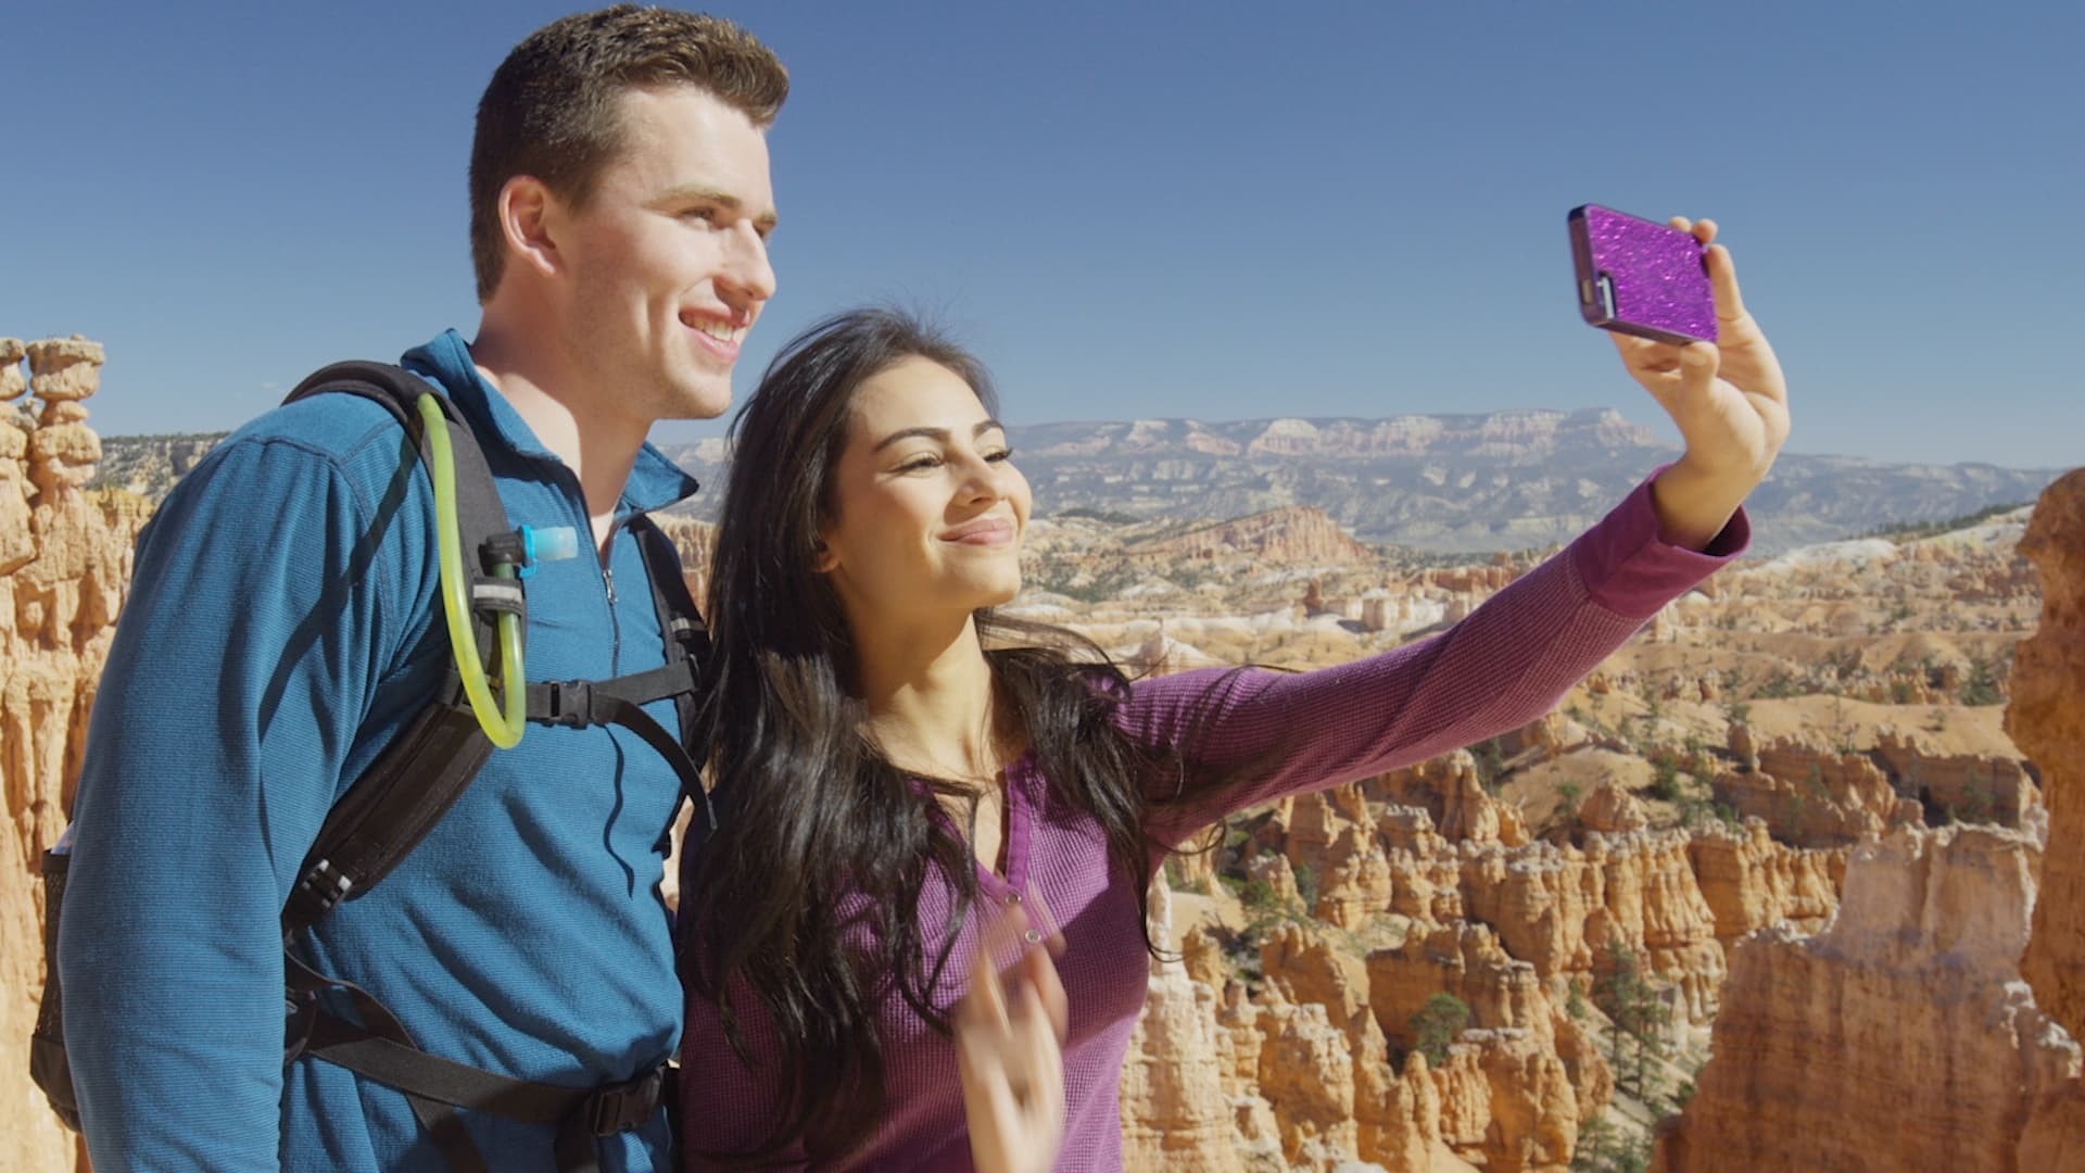
[[[617,6],[530,35],[480,102],[484,317],[475,340],[446,332],[404,365],[471,422],[511,522],[592,534],[598,557],[582,543],[530,580],[530,678],[665,662],[628,520],[694,484],[644,436],[730,405],[774,294],[765,129],[786,92],[742,29]],[[284,900],[332,804],[450,657],[411,459],[382,407],[319,394],[227,438],[140,538],[58,941],[102,1173],[448,1167],[400,1092],[284,1062]],[[671,701],[646,708],[676,726]],[[680,797],[623,728],[530,726],[296,950],[425,1052],[555,1087],[638,1079],[680,1037],[657,891]],[[557,1125],[457,1119],[490,1169],[559,1163]],[[665,1106],[598,1138],[598,1160],[671,1169]]]

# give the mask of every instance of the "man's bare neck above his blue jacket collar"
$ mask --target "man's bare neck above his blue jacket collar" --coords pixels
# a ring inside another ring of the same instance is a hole
[[[600,411],[586,399],[586,374],[573,369],[555,346],[534,332],[502,330],[490,319],[471,342],[471,361],[530,426],[542,447],[571,468],[586,495],[594,545],[607,557],[615,507],[621,503],[630,470],[636,468],[648,424],[615,411]]]

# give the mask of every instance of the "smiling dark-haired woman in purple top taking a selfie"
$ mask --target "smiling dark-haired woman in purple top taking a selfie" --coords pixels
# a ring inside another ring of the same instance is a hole
[[[1030,490],[984,372],[886,311],[794,340],[734,424],[711,578],[721,833],[684,881],[690,1167],[986,1160],[951,1008],[992,968],[982,910],[1040,895],[1070,998],[1055,1167],[1118,1169],[1145,891],[1170,849],[1535,720],[1745,545],[1787,397],[1728,253],[1708,257],[1720,353],[1616,338],[1685,457],[1451,630],[1305,674],[1130,683],[995,616]]]

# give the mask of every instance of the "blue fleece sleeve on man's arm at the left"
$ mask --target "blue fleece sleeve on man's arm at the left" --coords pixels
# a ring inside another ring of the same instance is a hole
[[[279,1167],[281,904],[396,641],[371,532],[334,457],[236,438],[140,536],[58,929],[96,1169]]]

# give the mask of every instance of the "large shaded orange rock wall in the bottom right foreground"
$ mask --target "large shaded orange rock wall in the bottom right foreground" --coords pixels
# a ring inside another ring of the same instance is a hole
[[[1902,829],[1854,852],[1831,927],[1731,960],[1716,1058],[1660,1142],[1666,1173],[2010,1173],[2081,1050],[2020,981],[2039,829]]]

